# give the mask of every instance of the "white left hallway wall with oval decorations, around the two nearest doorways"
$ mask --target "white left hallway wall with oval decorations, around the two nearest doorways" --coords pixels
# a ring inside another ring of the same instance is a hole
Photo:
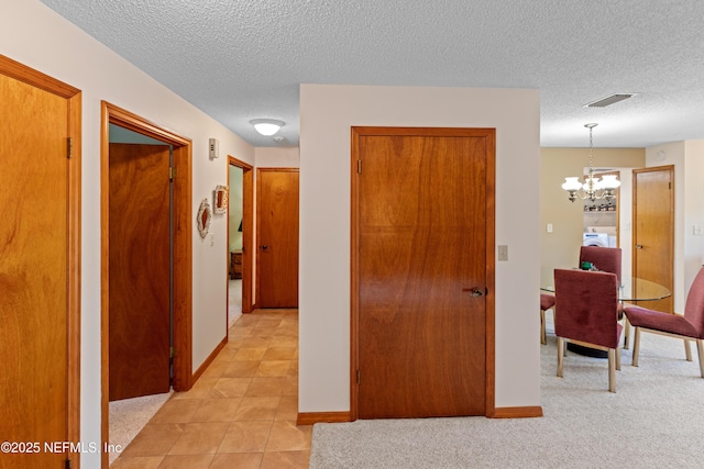
[[[100,443],[100,101],[106,100],[193,139],[194,369],[226,336],[227,220],[210,239],[195,226],[198,205],[227,183],[224,155],[254,165],[254,148],[37,0],[0,2],[0,53],[82,90],[81,440]],[[208,158],[208,138],[220,158]],[[100,467],[84,454],[81,467]]]

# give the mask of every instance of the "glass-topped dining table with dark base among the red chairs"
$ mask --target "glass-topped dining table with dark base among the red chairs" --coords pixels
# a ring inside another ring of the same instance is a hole
[[[554,293],[554,267],[540,268],[540,290]],[[620,284],[618,286],[618,301],[622,303],[657,301],[670,295],[672,295],[672,292],[663,284],[638,277],[620,277]],[[628,337],[624,337],[624,348],[628,348]],[[607,356],[605,351],[583,347],[576,344],[568,344],[568,349],[580,355],[586,355],[595,358],[606,358]]]

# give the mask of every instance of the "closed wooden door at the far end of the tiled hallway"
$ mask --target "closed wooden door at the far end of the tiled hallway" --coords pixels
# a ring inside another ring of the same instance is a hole
[[[298,308],[298,169],[258,169],[258,308]]]

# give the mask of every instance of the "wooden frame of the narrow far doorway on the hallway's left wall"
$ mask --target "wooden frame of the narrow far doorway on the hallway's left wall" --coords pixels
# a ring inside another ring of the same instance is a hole
[[[254,199],[254,167],[246,163],[228,155],[228,188],[230,188],[230,166],[235,166],[242,169],[242,313],[248,314],[252,312],[252,261],[254,245],[252,244],[252,230],[254,226],[254,220],[252,214],[253,199]],[[229,190],[229,189],[228,189]],[[229,204],[228,204],[229,206]],[[228,210],[228,216],[230,211]],[[230,224],[228,223],[228,242],[230,241]],[[228,248],[229,252],[229,248]],[[229,254],[229,253],[228,253]],[[228,266],[230,260],[228,258]],[[227,271],[226,271],[227,275]],[[229,281],[229,277],[228,277]],[[228,304],[230,303],[230,293],[228,291]],[[228,315],[226,314],[226,323]],[[230,330],[228,327],[228,335]]]

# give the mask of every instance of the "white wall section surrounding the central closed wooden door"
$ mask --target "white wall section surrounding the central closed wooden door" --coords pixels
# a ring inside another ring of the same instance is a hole
[[[350,127],[496,127],[496,406],[540,405],[539,93],[302,85],[299,412],[350,410]]]

